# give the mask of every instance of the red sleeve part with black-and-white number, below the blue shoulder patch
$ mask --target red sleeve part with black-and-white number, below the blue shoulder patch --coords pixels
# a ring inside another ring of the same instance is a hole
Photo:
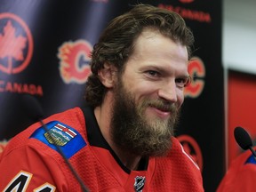
[[[36,140],[33,140],[37,142]],[[37,143],[40,145],[40,143]],[[41,144],[42,145],[42,144]],[[65,174],[52,156],[38,153],[29,145],[2,156],[0,191],[68,191]]]

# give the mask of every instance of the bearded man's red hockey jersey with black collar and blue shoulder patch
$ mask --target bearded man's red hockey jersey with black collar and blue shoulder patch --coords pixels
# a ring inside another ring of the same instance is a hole
[[[44,124],[47,132],[32,124],[4,148],[0,191],[82,191],[52,139],[90,191],[204,191],[198,166],[175,138],[167,156],[131,171],[104,140],[92,108],[68,109]]]

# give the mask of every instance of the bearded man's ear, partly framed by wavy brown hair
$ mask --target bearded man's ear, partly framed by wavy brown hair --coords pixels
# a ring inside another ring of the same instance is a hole
[[[98,72],[98,76],[100,77],[100,81],[108,88],[114,87],[116,84],[116,72],[117,69],[114,65],[109,63],[104,63],[104,68],[101,68]]]

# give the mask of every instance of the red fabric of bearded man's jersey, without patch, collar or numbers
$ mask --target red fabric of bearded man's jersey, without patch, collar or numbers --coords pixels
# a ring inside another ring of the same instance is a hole
[[[149,159],[147,171],[132,171],[129,174],[116,163],[107,149],[90,146],[84,114],[80,108],[50,116],[44,122],[53,120],[76,129],[87,143],[69,158],[69,162],[90,191],[135,191],[133,185],[137,176],[146,178],[143,192],[204,191],[200,170],[183,151],[180,142],[174,138],[168,156],[152,157]],[[20,132],[4,149],[0,163],[0,191],[12,183],[13,179],[17,179],[19,172],[23,180],[29,178],[24,185],[27,190],[24,191],[33,191],[45,186],[52,188],[52,191],[54,188],[55,191],[81,191],[79,183],[60,154],[40,140],[29,139],[40,126],[33,124],[24,132]]]

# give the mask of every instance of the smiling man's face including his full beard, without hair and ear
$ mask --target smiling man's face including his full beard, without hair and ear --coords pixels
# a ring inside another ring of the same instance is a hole
[[[111,133],[116,144],[142,156],[164,155],[171,148],[187,79],[186,47],[144,31],[114,89]]]

